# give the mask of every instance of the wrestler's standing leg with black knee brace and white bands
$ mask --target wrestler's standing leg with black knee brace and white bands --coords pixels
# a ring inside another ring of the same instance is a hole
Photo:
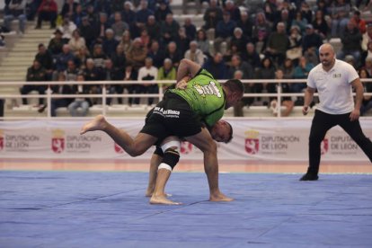
[[[164,153],[163,161],[159,165],[156,175],[155,190],[150,199],[151,204],[179,205],[180,202],[167,199],[165,185],[173,171],[174,166],[180,159],[181,141],[178,137],[167,137],[164,139],[162,150]]]

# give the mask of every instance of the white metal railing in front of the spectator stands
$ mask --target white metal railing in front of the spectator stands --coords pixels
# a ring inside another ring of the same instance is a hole
[[[224,83],[226,79],[218,80],[220,83]],[[362,83],[372,83],[372,79],[362,79]],[[244,93],[244,97],[275,97],[277,98],[277,107],[280,110],[281,107],[281,99],[283,97],[303,97],[304,93],[282,93],[282,85],[281,84],[299,84],[299,83],[306,83],[306,79],[252,79],[252,80],[242,80],[244,84],[277,84],[277,93]],[[102,86],[102,93],[94,93],[94,94],[58,94],[52,93],[50,90],[50,86],[52,85],[61,85],[63,84],[82,84],[82,85],[91,85],[91,84],[99,84]],[[164,90],[163,87],[159,87],[159,93],[108,93],[108,86],[114,84],[121,84],[121,85],[129,85],[129,84],[175,84],[175,81],[89,81],[89,82],[78,82],[78,81],[53,81],[53,82],[1,82],[0,87],[4,85],[14,86],[19,85],[20,87],[24,84],[31,84],[31,85],[47,85],[48,89],[46,90],[45,94],[31,94],[31,95],[22,95],[19,94],[6,94],[0,93],[0,99],[22,99],[22,98],[46,98],[47,99],[47,119],[51,117],[51,100],[54,98],[101,98],[102,99],[102,114],[106,115],[107,112],[107,99],[108,98],[157,98],[159,101],[163,99]],[[1,91],[0,91],[1,92]],[[365,93],[365,95],[371,95],[372,93]],[[314,96],[317,96],[317,93],[314,93]],[[278,118],[281,117],[281,111],[278,111]],[[10,120],[10,119],[21,119],[27,120],[30,117],[0,117],[0,120]],[[34,118],[32,118],[34,119]],[[45,119],[45,117],[37,117],[37,119]]]

